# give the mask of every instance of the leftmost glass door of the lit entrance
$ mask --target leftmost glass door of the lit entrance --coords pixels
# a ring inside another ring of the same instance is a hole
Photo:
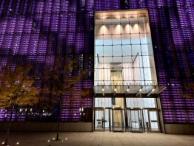
[[[94,129],[95,131],[105,131],[105,113],[104,108],[94,109]]]

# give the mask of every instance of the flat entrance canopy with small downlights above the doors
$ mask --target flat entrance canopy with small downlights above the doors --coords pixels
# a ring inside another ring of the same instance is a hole
[[[153,85],[97,85],[94,86],[96,97],[148,97],[156,98],[166,89],[165,86]]]

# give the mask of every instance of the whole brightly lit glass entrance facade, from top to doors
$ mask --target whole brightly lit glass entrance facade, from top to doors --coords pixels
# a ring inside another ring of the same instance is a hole
[[[94,31],[95,130],[160,131],[147,10],[96,12]]]

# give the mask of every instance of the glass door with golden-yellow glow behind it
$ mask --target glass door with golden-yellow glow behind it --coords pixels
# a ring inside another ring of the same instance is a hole
[[[124,131],[124,110],[121,108],[112,110],[112,130],[113,132]]]

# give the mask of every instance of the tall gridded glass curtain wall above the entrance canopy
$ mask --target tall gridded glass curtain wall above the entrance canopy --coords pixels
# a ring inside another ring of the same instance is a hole
[[[97,12],[95,86],[157,85],[146,10]]]

